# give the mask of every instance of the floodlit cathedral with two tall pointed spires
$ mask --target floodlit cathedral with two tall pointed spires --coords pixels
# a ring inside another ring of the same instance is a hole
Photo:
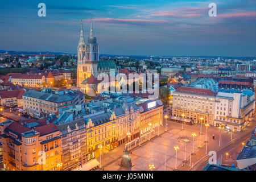
[[[110,69],[116,71],[115,63],[113,60],[100,60],[97,39],[93,36],[92,21],[90,22],[90,35],[85,43],[81,20],[80,40],[77,46],[77,87],[81,92],[88,94],[93,91],[90,85],[97,84],[97,76],[100,73],[110,76]]]

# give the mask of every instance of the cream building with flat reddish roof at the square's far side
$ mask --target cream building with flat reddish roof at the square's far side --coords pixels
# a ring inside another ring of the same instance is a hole
[[[173,93],[172,114],[192,119],[193,122],[214,125],[215,94],[210,89],[180,87]]]

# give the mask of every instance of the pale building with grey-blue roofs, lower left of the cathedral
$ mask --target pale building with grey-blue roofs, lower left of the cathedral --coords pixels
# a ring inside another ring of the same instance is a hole
[[[79,90],[60,90],[53,92],[52,89],[28,90],[22,96],[23,110],[34,117],[46,117],[59,113],[59,109],[84,102],[84,94]]]

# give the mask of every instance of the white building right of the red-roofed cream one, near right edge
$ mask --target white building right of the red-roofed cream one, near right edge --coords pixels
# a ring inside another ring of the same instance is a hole
[[[214,126],[241,131],[255,112],[255,95],[251,90],[219,90],[216,96]]]

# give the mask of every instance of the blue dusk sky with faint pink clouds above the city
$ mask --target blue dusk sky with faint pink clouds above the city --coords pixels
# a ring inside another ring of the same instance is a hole
[[[255,0],[4,1],[0,49],[77,53],[80,19],[87,40],[91,17],[101,54],[256,56]]]

